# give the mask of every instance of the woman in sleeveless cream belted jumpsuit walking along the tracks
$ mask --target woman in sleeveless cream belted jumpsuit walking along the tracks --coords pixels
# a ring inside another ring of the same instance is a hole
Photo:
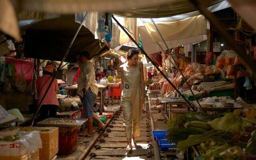
[[[143,64],[138,62],[139,52],[130,49],[126,53],[128,62],[120,66],[121,72],[121,104],[124,112],[124,130],[128,146],[126,150],[132,150],[137,145],[136,137],[140,136],[140,115],[144,103],[144,76]]]

